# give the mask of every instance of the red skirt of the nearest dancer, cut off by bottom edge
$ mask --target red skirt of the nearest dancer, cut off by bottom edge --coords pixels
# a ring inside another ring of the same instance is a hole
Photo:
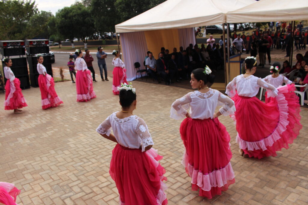
[[[109,173],[120,194],[120,204],[164,205],[168,203],[163,180],[163,157],[151,148],[146,152],[117,144],[112,151]]]

